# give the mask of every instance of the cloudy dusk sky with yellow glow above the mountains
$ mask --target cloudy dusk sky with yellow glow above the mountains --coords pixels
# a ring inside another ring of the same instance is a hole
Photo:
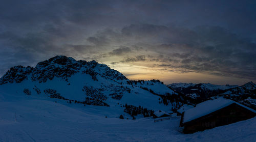
[[[255,1],[2,1],[0,76],[55,55],[129,79],[256,82]]]

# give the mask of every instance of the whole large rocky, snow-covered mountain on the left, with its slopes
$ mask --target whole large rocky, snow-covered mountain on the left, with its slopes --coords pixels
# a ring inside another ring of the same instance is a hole
[[[0,79],[3,100],[42,99],[95,109],[107,117],[151,116],[177,109],[184,99],[159,80],[134,81],[96,61],[55,56],[36,67],[15,66]],[[166,97],[167,96],[167,97]]]

